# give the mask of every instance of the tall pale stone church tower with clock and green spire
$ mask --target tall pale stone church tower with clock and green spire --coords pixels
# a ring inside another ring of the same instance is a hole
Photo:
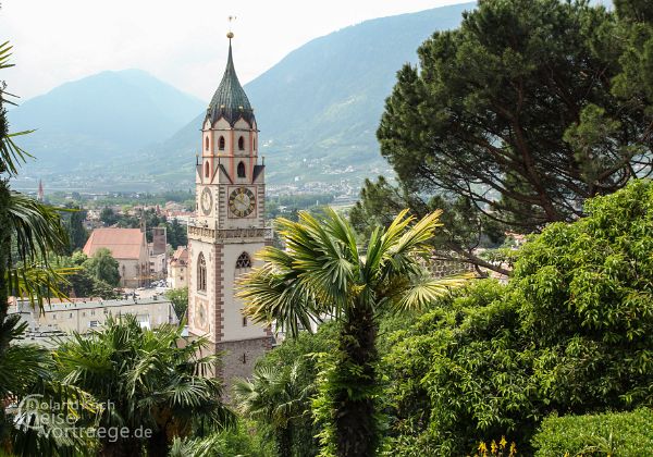
[[[229,58],[201,125],[196,159],[196,218],[188,223],[188,330],[207,335],[223,353],[217,375],[226,384],[249,376],[256,359],[271,347],[269,329],[254,325],[235,297],[236,279],[271,243],[266,227],[264,165],[259,163],[254,110],[238,82],[227,34]]]

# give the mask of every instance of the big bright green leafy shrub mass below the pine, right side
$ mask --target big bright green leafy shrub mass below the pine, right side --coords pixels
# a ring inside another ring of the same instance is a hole
[[[476,282],[394,335],[393,454],[463,455],[501,435],[529,452],[552,411],[653,404],[653,184],[584,210],[527,243],[507,285]]]

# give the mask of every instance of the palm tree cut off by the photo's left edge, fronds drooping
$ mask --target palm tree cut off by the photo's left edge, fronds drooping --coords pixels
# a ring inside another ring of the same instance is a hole
[[[0,70],[12,66],[10,55],[11,46],[1,44]],[[63,297],[61,272],[49,268],[47,257],[67,246],[59,212],[10,188],[9,180],[30,156],[14,143],[28,132],[9,133],[4,103],[14,103],[8,96],[0,82],[0,443],[4,446],[10,430],[15,432],[5,418],[7,398],[20,399],[28,385],[49,379],[45,351],[11,344],[23,335],[25,325],[19,316],[8,316],[9,296],[27,297],[39,307],[52,295]]]

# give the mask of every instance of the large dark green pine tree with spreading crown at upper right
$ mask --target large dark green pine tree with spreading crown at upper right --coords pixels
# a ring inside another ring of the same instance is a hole
[[[648,102],[613,90],[627,36],[584,0],[481,1],[398,72],[381,151],[407,190],[461,198],[472,220],[520,233],[574,220],[653,171]]]

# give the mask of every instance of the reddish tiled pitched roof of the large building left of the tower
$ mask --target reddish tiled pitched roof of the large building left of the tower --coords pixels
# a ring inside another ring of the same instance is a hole
[[[84,246],[91,257],[98,249],[107,248],[114,259],[139,259],[145,249],[145,234],[140,228],[96,228]]]

